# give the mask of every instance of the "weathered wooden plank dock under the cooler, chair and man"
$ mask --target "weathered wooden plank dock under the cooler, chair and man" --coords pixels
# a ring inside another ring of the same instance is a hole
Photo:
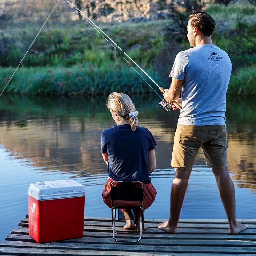
[[[146,220],[149,226],[138,243],[117,243],[112,238],[110,218],[85,217],[84,237],[38,244],[28,235],[28,216],[21,220],[0,245],[0,255],[172,255],[172,256],[249,256],[256,254],[256,220],[239,220],[247,229],[228,234],[227,220],[180,220],[177,234],[157,228],[163,220]],[[124,230],[121,221],[117,231]],[[117,234],[133,238],[135,231]],[[137,235],[137,234],[136,234]]]

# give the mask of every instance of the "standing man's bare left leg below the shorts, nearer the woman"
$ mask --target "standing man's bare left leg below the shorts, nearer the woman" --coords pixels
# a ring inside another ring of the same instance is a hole
[[[177,228],[184,196],[188,187],[190,173],[191,170],[184,171],[175,168],[175,177],[172,181],[170,196],[170,217],[168,221],[158,225],[158,228],[166,231],[167,233],[175,233],[175,229]]]

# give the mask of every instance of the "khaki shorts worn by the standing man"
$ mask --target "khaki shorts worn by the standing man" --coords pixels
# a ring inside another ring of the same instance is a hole
[[[228,141],[225,125],[180,124],[174,136],[171,166],[180,170],[191,170],[200,147],[204,151],[208,167],[228,167]]]

